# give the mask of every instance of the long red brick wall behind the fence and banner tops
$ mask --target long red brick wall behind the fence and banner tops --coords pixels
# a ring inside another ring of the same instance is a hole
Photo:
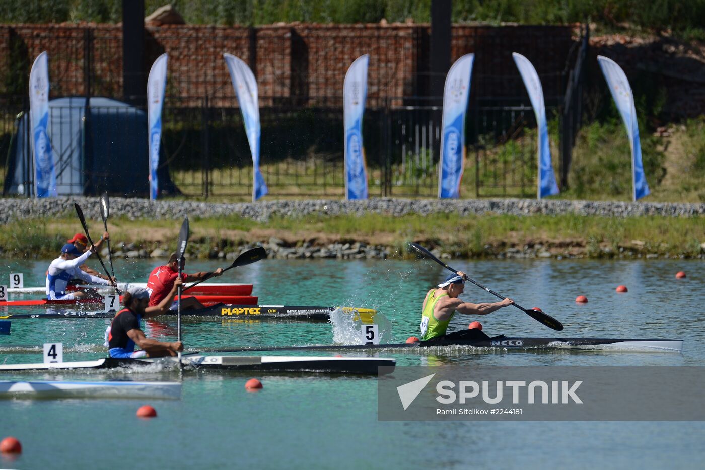
[[[455,25],[452,57],[477,55],[478,93],[514,97],[525,94],[511,58],[519,51],[546,80],[546,94],[560,94],[571,33],[571,27]],[[215,106],[235,106],[222,57],[229,52],[253,66],[263,106],[339,106],[345,71],[357,56],[370,54],[368,100],[374,106],[379,99],[426,94],[428,39],[429,25],[406,24],[146,27],[144,80],[154,59],[167,52],[168,100],[193,106],[208,94]],[[121,97],[119,25],[0,25],[0,65],[25,76],[22,86],[6,78],[0,92],[26,89],[32,61],[44,50],[52,97],[85,94],[87,86],[94,95]]]

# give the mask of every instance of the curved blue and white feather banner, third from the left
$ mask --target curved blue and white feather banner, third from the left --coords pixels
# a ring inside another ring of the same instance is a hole
[[[247,141],[252,152],[252,202],[268,192],[264,176],[259,171],[259,102],[257,100],[257,80],[245,62],[231,54],[223,54],[226,66],[233,81],[235,94],[238,95],[240,111],[245,121]]]

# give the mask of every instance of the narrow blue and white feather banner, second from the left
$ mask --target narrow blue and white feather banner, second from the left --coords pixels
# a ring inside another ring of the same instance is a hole
[[[149,127],[149,199],[157,199],[159,181],[159,144],[161,143],[161,107],[166,89],[168,54],[161,54],[152,64],[147,78],[147,126]]]

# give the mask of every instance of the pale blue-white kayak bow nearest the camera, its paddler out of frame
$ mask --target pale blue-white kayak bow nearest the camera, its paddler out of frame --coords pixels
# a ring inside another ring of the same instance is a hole
[[[0,398],[174,398],[181,396],[179,382],[67,382],[0,381]]]

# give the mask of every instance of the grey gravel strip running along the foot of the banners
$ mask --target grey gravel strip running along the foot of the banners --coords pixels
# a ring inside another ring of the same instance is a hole
[[[0,199],[0,223],[25,218],[71,216],[78,202],[87,218],[100,219],[98,198],[61,197],[56,199]],[[367,201],[268,201],[257,203],[211,204],[190,201],[149,201],[147,199],[110,199],[111,216],[128,218],[178,219],[183,216],[241,216],[266,221],[271,216],[297,217],[308,214],[362,216],[374,212],[389,216],[455,212],[466,214],[512,214],[517,216],[577,214],[581,216],[697,217],[705,215],[705,204],[659,202],[590,202],[536,199],[369,199]]]

